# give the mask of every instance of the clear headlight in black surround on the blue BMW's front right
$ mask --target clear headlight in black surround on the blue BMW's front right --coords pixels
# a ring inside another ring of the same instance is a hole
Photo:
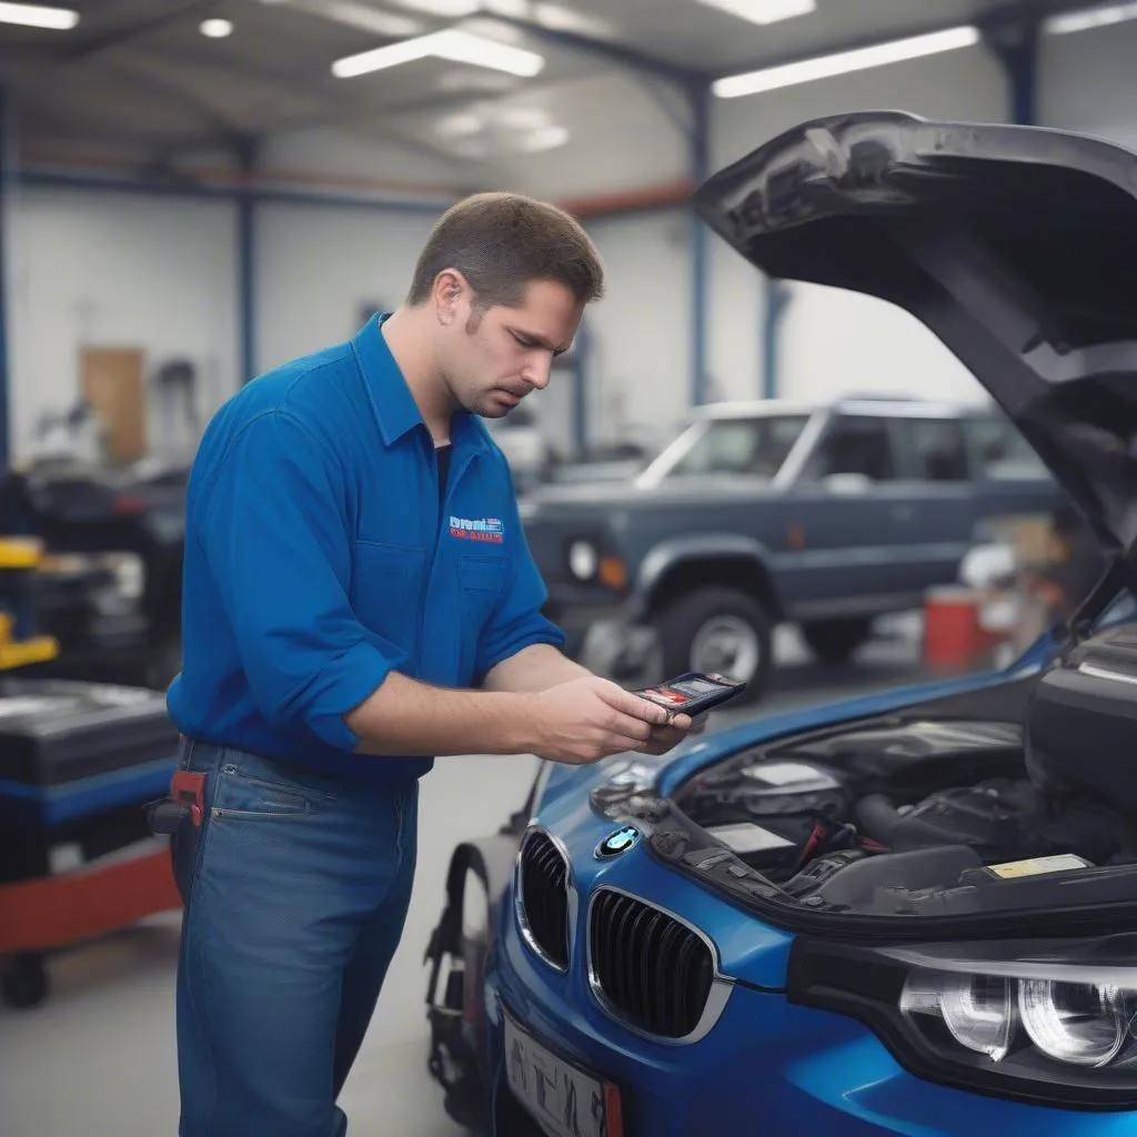
[[[913,1073],[1074,1109],[1137,1107],[1137,935],[795,944],[790,999],[852,1014]]]

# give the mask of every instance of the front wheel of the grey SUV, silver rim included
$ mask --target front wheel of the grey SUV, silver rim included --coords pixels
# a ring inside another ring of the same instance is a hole
[[[720,672],[745,682],[735,706],[756,703],[772,665],[770,619],[732,588],[700,588],[673,601],[655,620],[663,654],[662,678],[684,671]]]

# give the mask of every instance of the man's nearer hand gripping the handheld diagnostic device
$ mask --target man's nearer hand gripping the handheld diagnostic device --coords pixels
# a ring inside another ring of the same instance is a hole
[[[617,683],[586,675],[529,696],[533,753],[550,762],[587,765],[626,750],[665,754],[691,720],[669,713]]]

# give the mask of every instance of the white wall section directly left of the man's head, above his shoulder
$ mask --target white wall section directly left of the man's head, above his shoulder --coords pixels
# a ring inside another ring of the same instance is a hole
[[[365,302],[401,302],[437,214],[258,207],[258,371],[354,335]]]

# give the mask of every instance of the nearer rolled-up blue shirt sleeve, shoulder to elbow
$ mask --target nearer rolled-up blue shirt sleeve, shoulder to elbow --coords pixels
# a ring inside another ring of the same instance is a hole
[[[198,507],[202,550],[260,713],[354,749],[343,716],[406,656],[352,612],[338,459],[298,420],[268,412],[235,437]]]

